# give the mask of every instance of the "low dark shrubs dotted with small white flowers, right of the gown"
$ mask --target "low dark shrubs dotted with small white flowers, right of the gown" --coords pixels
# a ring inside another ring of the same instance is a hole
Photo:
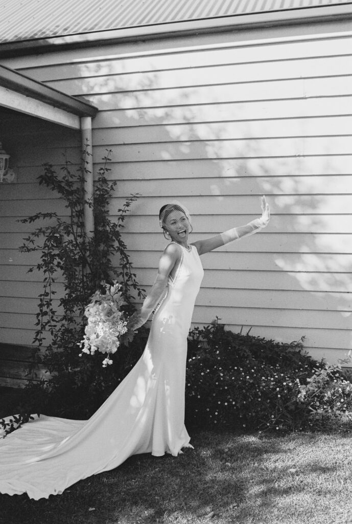
[[[186,420],[245,430],[350,425],[352,385],[339,366],[314,361],[302,340],[282,344],[213,322],[189,336]]]

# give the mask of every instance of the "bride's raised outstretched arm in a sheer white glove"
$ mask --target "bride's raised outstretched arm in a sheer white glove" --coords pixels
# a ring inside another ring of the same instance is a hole
[[[244,226],[238,226],[238,227],[232,227],[232,229],[228,231],[224,231],[223,233],[220,233],[219,235],[215,235],[211,238],[207,238],[206,240],[198,240],[197,242],[194,242],[193,244],[197,247],[199,255],[203,255],[205,253],[209,253],[209,251],[212,251],[213,249],[216,249],[217,247],[224,246],[225,244],[228,244],[229,242],[233,242],[234,240],[237,240],[238,238],[243,238],[245,236],[253,235],[254,233],[257,233],[257,231],[262,230],[264,227],[266,227],[270,220],[270,210],[269,210],[269,204],[267,203],[265,196],[262,196],[262,216],[260,216],[259,219],[252,220],[252,222],[248,222],[248,224]]]

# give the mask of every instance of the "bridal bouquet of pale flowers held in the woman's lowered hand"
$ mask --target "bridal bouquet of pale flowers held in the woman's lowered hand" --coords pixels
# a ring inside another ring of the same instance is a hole
[[[78,343],[83,346],[83,353],[93,355],[96,351],[107,353],[103,367],[112,364],[110,355],[117,351],[121,336],[127,332],[127,318],[121,305],[125,302],[121,296],[121,285],[116,281],[110,286],[104,286],[105,293],[96,291],[87,305],[84,314],[88,319],[83,340]]]

